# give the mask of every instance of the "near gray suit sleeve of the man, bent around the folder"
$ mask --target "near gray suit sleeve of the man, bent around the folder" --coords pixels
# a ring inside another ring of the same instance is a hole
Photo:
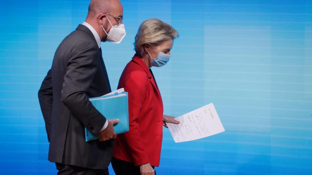
[[[62,102],[71,113],[97,135],[106,118],[89,101],[87,92],[99,64],[99,48],[93,43],[82,43],[71,53],[62,89]]]

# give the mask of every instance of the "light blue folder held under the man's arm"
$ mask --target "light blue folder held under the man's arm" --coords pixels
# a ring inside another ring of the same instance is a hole
[[[114,126],[116,134],[121,134],[129,131],[129,112],[128,112],[128,93],[116,92],[110,95],[101,97],[89,98],[93,106],[107,120],[119,119],[119,122]],[[85,141],[99,139],[98,135],[93,135],[85,127]]]

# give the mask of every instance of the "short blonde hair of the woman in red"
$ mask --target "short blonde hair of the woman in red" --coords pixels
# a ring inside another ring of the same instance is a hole
[[[145,54],[144,44],[158,46],[163,41],[179,37],[178,31],[170,24],[156,18],[142,22],[134,38],[134,50],[141,56]]]

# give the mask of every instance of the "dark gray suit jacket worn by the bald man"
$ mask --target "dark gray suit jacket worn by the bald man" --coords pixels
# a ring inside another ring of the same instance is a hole
[[[85,168],[106,169],[114,140],[85,142],[87,127],[97,135],[105,117],[88,100],[111,92],[92,32],[83,25],[58,46],[51,69],[38,92],[50,142],[48,160]]]

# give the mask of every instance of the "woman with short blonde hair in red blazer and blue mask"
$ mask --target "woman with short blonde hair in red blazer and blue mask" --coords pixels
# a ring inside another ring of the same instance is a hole
[[[155,174],[163,125],[179,123],[163,115],[163,102],[150,69],[169,61],[176,37],[178,31],[155,18],[144,21],[135,36],[136,54],[124,68],[118,85],[129,94],[129,131],[115,140],[112,166],[116,175]]]

